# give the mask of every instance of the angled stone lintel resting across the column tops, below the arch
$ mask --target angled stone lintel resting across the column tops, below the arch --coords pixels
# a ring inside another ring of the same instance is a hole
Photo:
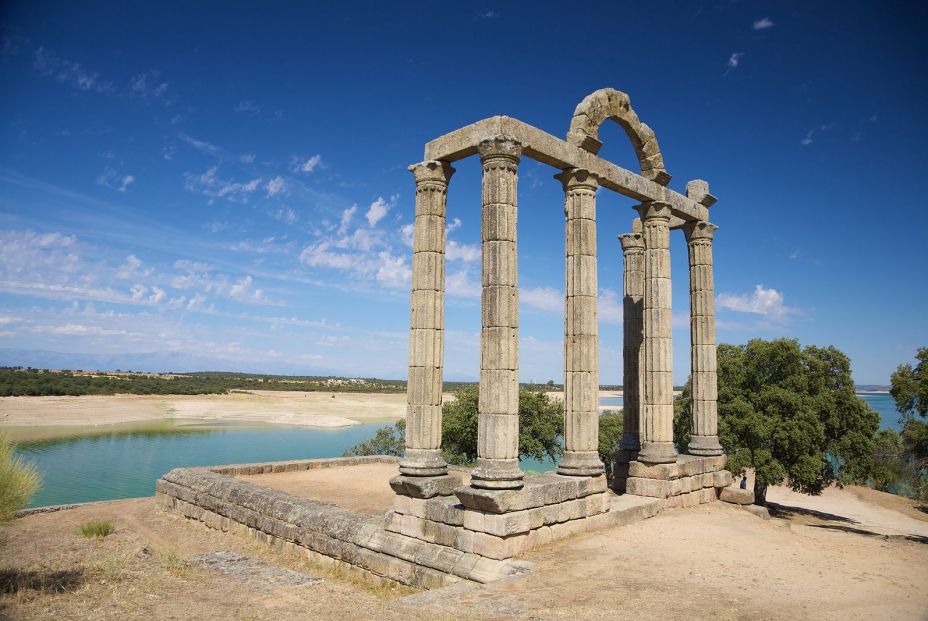
[[[499,134],[521,142],[522,155],[525,157],[558,170],[584,168],[596,174],[601,187],[638,201],[660,200],[668,203],[673,215],[679,218],[671,221],[673,228],[678,228],[684,220],[709,219],[709,210],[705,205],[616,166],[566,140],[507,116],[494,116],[477,121],[432,140],[425,145],[425,159],[454,162],[470,157],[477,153],[477,145],[482,140]]]

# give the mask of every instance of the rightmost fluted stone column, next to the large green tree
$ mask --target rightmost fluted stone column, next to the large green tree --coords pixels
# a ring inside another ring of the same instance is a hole
[[[722,454],[718,436],[715,286],[712,277],[712,237],[716,228],[709,222],[688,222],[683,227],[690,255],[693,428],[687,452],[691,455]]]

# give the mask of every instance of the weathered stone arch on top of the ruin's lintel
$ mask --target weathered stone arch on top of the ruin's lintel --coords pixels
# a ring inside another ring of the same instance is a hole
[[[614,88],[601,88],[580,102],[570,121],[567,142],[590,153],[597,153],[603,146],[599,140],[599,126],[606,119],[618,123],[628,134],[638,156],[641,176],[661,185],[670,183],[670,175],[664,168],[664,157],[657,145],[657,137],[632,110],[628,95]]]

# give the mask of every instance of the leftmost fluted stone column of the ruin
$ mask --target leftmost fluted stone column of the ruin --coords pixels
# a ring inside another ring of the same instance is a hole
[[[454,169],[427,161],[409,170],[416,178],[412,303],[409,322],[409,380],[406,386],[406,452],[400,472],[440,476],[448,472],[441,454],[441,384],[445,333],[445,202]]]

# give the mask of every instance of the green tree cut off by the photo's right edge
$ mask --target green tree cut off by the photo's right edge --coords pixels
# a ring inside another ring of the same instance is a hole
[[[892,374],[890,394],[901,414],[903,457],[914,468],[911,485],[916,495],[928,500],[928,347],[916,352],[918,363],[901,364]]]

